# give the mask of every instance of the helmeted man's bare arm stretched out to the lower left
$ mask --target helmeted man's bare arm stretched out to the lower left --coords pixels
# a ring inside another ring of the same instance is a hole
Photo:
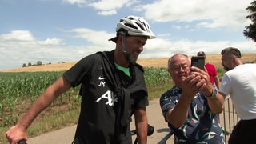
[[[63,76],[49,86],[32,106],[30,106],[30,109],[23,115],[22,119],[6,132],[6,138],[8,138],[10,144],[15,144],[22,139],[27,140],[26,130],[34,121],[34,118],[36,118],[42,110],[46,109],[55,98],[58,98],[59,95],[69,90],[70,87],[70,83],[67,82],[66,78]]]

